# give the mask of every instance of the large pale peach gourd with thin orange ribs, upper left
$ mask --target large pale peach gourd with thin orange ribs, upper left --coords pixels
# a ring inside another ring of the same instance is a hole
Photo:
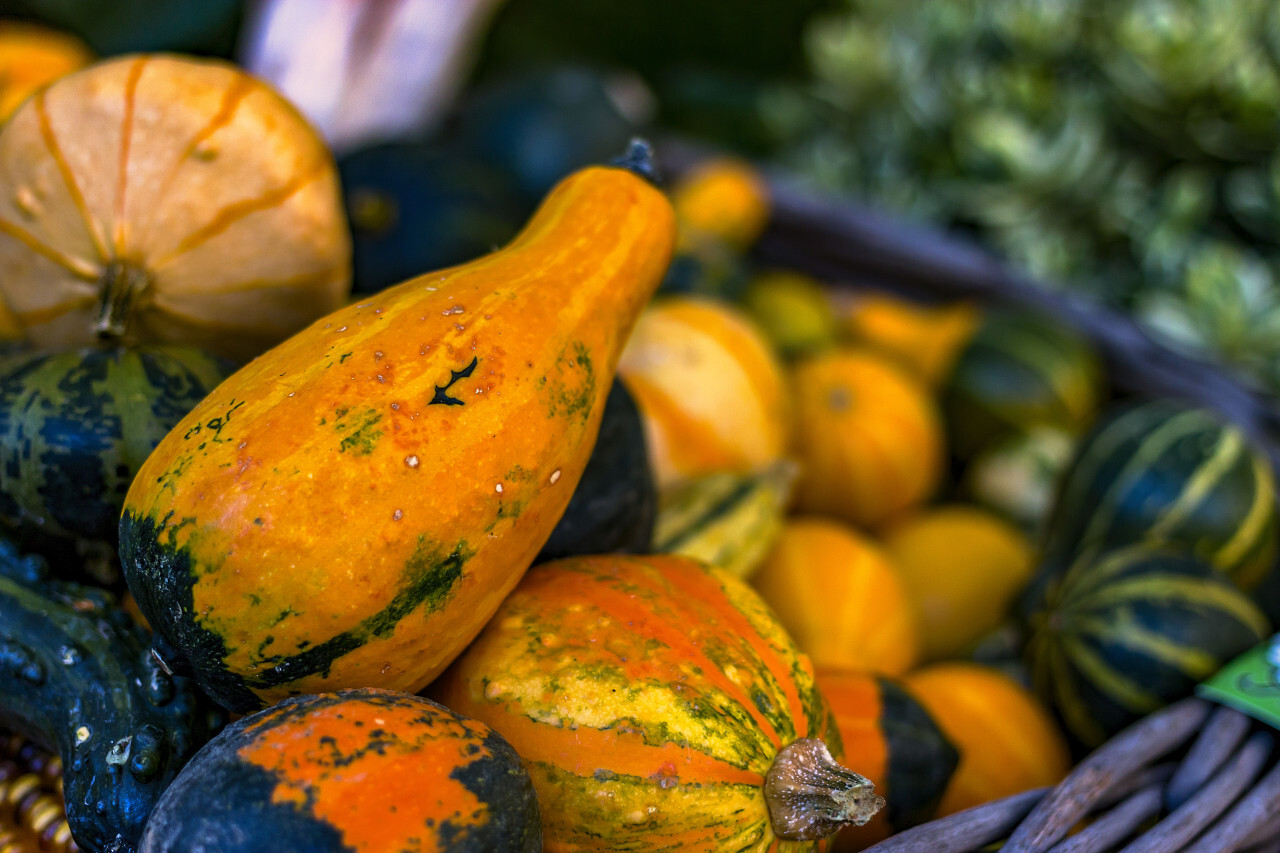
[[[0,131],[0,334],[247,360],[340,306],[351,236],[311,126],[234,65],[123,56]]]

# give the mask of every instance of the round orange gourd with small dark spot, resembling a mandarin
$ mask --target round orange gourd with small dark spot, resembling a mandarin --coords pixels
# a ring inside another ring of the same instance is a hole
[[[836,350],[791,370],[796,508],[878,526],[942,476],[942,421],[928,388],[888,356]]]

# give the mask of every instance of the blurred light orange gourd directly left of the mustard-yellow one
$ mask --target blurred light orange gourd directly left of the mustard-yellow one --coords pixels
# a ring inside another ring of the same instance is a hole
[[[919,660],[901,579],[878,544],[840,521],[788,520],[751,585],[815,666],[900,675]]]

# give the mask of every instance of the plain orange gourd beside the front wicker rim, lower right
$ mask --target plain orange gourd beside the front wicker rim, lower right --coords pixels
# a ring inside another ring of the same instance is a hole
[[[940,817],[1055,785],[1070,770],[1066,740],[1050,712],[1007,675],[978,663],[934,663],[905,683],[960,749]]]

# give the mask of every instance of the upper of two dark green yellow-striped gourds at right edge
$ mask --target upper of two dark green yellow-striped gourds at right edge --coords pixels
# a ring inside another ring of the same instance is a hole
[[[1240,429],[1170,400],[1121,407],[1085,437],[1048,525],[1042,573],[1075,555],[1181,548],[1251,589],[1276,553],[1275,480]]]

